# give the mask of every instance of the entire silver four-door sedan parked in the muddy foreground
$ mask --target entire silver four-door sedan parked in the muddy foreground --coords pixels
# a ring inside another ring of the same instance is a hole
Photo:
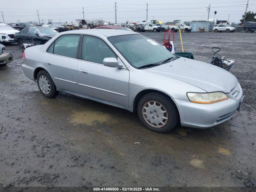
[[[27,48],[22,68],[52,98],[59,91],[138,112],[148,129],[208,128],[239,110],[237,78],[217,66],[176,56],[142,34],[74,30]]]

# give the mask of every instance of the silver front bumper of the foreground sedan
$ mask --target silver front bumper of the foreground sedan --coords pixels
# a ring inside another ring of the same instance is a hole
[[[238,84],[240,87],[240,85]],[[209,128],[232,118],[240,108],[243,91],[238,94],[226,94],[228,100],[213,104],[197,104],[189,100],[174,99],[180,114],[182,126],[193,128]]]

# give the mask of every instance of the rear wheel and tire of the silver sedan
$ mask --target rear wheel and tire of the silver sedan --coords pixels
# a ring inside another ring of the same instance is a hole
[[[59,92],[56,90],[56,86],[48,72],[46,72],[45,70],[38,72],[36,80],[37,86],[43,96],[47,98],[53,98],[58,95]],[[50,89],[50,91],[48,89]]]

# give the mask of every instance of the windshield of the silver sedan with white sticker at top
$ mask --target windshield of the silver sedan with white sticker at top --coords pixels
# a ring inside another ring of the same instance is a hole
[[[113,36],[108,40],[135,68],[175,57],[162,45],[141,34]]]

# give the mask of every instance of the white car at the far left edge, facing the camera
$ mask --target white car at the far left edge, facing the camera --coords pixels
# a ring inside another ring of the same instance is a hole
[[[20,32],[9,25],[0,23],[0,43],[15,43],[14,34]]]

